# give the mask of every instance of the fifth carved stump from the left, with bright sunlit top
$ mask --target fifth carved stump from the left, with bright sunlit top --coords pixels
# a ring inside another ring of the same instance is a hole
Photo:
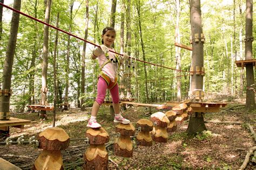
[[[170,124],[170,120],[162,112],[157,112],[151,115],[151,121],[154,123],[151,137],[155,142],[167,142],[168,133],[166,127]]]

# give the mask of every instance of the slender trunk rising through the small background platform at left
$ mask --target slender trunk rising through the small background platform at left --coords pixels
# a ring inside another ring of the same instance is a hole
[[[51,0],[45,1],[45,17],[44,22],[49,24],[50,21],[50,11],[51,11]],[[48,40],[49,40],[49,26],[44,25],[44,44],[43,44],[43,64],[42,64],[42,99],[41,105],[47,104],[47,70],[48,70]],[[46,111],[41,111],[41,119],[46,118]]]

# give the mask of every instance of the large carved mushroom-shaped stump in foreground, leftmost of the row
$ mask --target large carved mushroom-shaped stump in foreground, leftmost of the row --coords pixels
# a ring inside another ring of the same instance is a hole
[[[39,148],[44,149],[33,169],[64,169],[61,150],[69,147],[69,135],[59,127],[50,127],[38,135]]]

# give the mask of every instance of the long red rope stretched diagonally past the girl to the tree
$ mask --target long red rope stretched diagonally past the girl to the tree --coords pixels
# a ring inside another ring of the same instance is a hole
[[[3,3],[0,3],[0,5],[4,6],[5,8],[8,8],[8,9],[10,9],[10,10],[12,10],[12,11],[15,11],[15,12],[17,12],[17,13],[20,13],[21,15],[24,15],[24,16],[30,18],[30,19],[33,19],[33,20],[35,20],[35,21],[37,21],[37,22],[39,22],[39,23],[42,23],[42,24],[47,25],[47,26],[50,26],[51,28],[56,29],[56,30],[58,30],[58,31],[60,31],[60,32],[66,33],[67,35],[70,35],[70,36],[75,37],[75,38],[77,38],[77,39],[83,40],[83,41],[86,42],[86,43],[89,43],[89,44],[92,44],[92,45],[94,45],[94,46],[100,47],[100,46],[97,45],[97,44],[94,44],[94,43],[92,43],[92,42],[89,42],[89,41],[87,41],[87,40],[85,40],[85,39],[83,39],[83,38],[80,38],[80,37],[76,36],[76,35],[72,35],[72,33],[70,33],[70,32],[67,32],[67,31],[64,31],[64,30],[62,30],[62,29],[59,29],[59,28],[57,28],[56,26],[50,25],[50,24],[45,23],[45,22],[43,22],[43,21],[41,21],[41,20],[39,20],[39,19],[37,19],[37,18],[35,18],[35,17],[32,17],[32,16],[30,16],[30,15],[27,15],[26,13],[23,13],[23,12],[21,12],[21,11],[19,11],[19,10],[16,10],[16,9],[14,9],[14,8],[11,8],[11,7],[8,6],[8,5],[5,5],[5,4],[3,4]],[[111,50],[110,50],[110,51],[111,51]],[[111,52],[116,53],[117,55],[123,56],[122,54],[120,54],[120,53],[118,53],[118,52],[115,52],[115,51],[111,51]],[[130,57],[130,56],[129,56],[129,57]],[[139,62],[143,62],[143,63],[146,63],[146,64],[151,64],[151,65],[158,66],[158,67],[163,67],[163,68],[165,68],[165,69],[170,69],[170,70],[174,70],[174,71],[198,73],[198,71],[178,70],[178,69],[173,69],[173,68],[171,68],[171,67],[167,67],[167,66],[163,66],[163,65],[159,65],[159,64],[154,64],[154,63],[146,62],[146,61],[144,61],[144,60],[140,60],[140,59],[136,59],[136,58],[132,58],[132,57],[130,57],[130,58],[133,59],[133,60],[139,61]],[[200,72],[203,72],[203,71],[200,71]]]

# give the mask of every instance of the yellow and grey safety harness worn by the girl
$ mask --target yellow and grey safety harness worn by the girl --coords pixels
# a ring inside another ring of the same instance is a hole
[[[118,77],[116,76],[114,78],[114,82],[111,81],[110,77],[107,76],[103,71],[102,71],[102,68],[107,64],[107,63],[110,63],[110,62],[113,62],[113,63],[116,63],[118,68],[120,66],[120,61],[119,61],[119,56],[118,55],[115,55],[115,59],[116,61],[114,61],[113,58],[109,58],[109,54],[106,53],[105,54],[106,58],[107,58],[107,61],[99,68],[100,72],[99,72],[99,77],[101,76],[102,78],[104,78],[104,80],[106,81],[107,83],[107,89],[111,90],[116,84],[117,84],[117,80],[118,80]]]

